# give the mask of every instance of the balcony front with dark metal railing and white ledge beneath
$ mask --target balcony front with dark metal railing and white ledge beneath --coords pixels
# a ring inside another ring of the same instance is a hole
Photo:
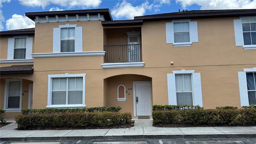
[[[102,68],[143,67],[141,44],[104,46]]]

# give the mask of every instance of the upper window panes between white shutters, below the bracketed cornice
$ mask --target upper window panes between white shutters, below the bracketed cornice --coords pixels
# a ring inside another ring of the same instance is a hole
[[[60,29],[60,52],[75,51],[75,28]]]

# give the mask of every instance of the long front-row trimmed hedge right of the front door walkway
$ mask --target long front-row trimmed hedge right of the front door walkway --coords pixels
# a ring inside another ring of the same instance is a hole
[[[153,124],[183,126],[254,126],[256,109],[155,110]]]

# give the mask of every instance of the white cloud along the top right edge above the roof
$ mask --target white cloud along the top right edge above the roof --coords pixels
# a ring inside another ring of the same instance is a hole
[[[201,6],[201,10],[254,9],[256,0],[176,0],[184,9],[192,4]]]

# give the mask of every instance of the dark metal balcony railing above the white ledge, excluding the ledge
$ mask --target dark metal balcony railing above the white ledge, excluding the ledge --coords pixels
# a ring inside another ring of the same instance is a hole
[[[141,62],[141,44],[104,46],[104,62]]]

